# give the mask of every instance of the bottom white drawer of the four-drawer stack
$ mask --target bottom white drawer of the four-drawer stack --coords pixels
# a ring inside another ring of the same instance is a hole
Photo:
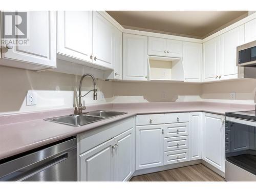
[[[188,149],[164,152],[164,164],[173,164],[188,161]]]

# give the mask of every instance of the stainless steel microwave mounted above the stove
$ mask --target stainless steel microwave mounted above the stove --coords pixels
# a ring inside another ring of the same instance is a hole
[[[256,67],[256,40],[237,47],[237,66]]]

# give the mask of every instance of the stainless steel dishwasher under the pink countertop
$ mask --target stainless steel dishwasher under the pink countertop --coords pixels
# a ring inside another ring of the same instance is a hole
[[[76,137],[1,160],[0,181],[77,181]]]

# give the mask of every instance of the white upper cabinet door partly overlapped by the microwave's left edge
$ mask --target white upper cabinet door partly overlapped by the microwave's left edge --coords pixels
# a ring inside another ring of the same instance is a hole
[[[244,43],[244,25],[222,34],[220,39],[219,79],[238,78],[237,46]]]

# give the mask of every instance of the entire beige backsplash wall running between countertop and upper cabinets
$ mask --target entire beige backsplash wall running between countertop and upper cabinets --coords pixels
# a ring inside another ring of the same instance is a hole
[[[34,72],[0,67],[0,114],[71,108],[76,103],[80,76]],[[83,82],[83,94],[91,90],[92,81]],[[207,84],[111,82],[97,80],[98,100],[92,93],[84,98],[86,105],[110,102],[219,101],[254,103],[256,79],[243,79]],[[37,105],[26,105],[28,90],[35,90]],[[229,93],[236,93],[236,100]]]

